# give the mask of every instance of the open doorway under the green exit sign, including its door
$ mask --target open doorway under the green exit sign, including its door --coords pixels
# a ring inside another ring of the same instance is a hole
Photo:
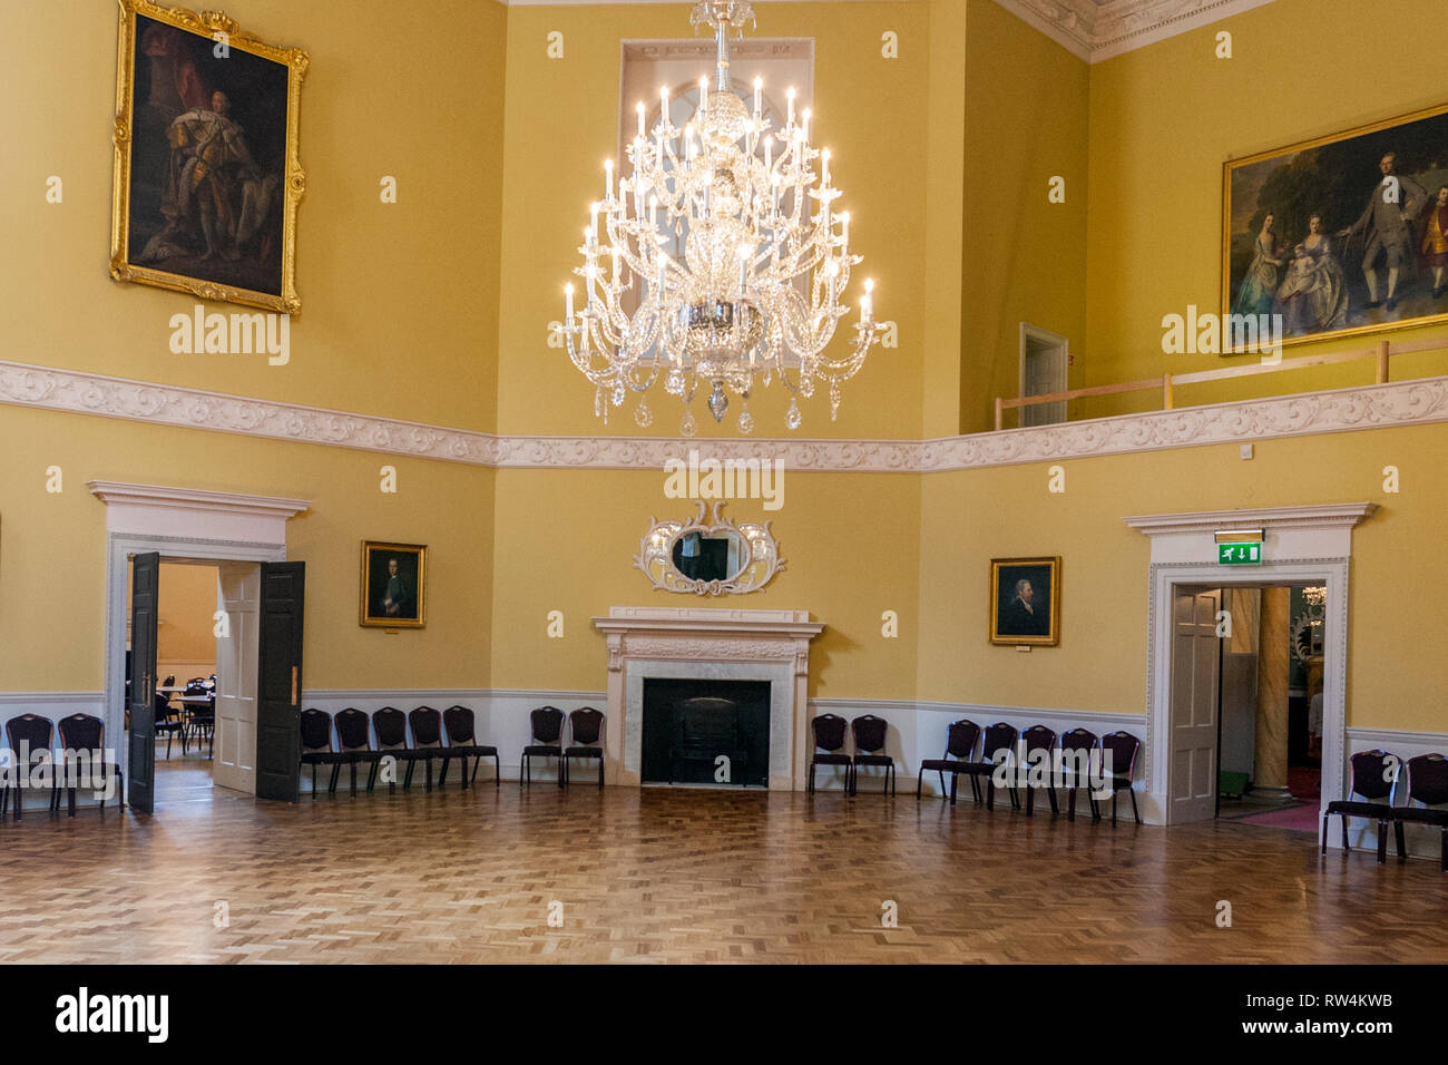
[[[1176,588],[1173,756],[1209,785],[1183,820],[1316,833],[1325,603],[1321,585]]]

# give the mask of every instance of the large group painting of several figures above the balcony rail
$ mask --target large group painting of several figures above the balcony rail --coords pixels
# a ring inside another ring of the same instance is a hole
[[[1448,104],[1224,168],[1222,314],[1283,343],[1448,320],[1445,267]]]

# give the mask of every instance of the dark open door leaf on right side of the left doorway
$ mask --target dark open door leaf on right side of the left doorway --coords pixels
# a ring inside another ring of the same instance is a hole
[[[304,562],[262,562],[256,662],[256,797],[297,801]]]

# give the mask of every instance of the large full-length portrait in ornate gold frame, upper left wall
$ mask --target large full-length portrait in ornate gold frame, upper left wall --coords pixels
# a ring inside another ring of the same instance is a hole
[[[119,41],[111,277],[297,313],[307,54],[151,0]]]

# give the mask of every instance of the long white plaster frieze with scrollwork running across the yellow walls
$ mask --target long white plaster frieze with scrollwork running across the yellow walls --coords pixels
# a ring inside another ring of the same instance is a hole
[[[500,469],[663,469],[698,449],[791,472],[933,474],[1448,422],[1448,377],[928,440],[500,436],[6,361],[0,403]]]

